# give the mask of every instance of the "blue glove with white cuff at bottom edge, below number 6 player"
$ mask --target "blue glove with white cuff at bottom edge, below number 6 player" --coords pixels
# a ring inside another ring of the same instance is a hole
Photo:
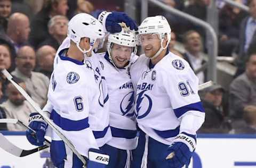
[[[87,168],[105,168],[109,162],[109,156],[99,149],[89,149],[89,160],[87,160]]]

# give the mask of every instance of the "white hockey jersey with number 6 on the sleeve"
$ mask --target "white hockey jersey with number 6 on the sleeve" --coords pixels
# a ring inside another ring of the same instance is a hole
[[[111,139],[108,93],[97,58],[80,62],[66,57],[69,44],[66,38],[55,56],[47,103],[53,108],[50,119],[78,152],[87,156],[89,148],[98,148]],[[60,140],[55,132],[52,139]]]

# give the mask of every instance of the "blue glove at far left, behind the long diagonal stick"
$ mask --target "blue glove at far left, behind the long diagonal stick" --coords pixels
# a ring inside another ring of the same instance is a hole
[[[26,137],[30,144],[36,145],[36,146],[43,146],[44,144],[44,136],[46,129],[48,127],[48,124],[44,121],[43,117],[39,113],[31,113],[29,115],[29,128],[26,131]]]

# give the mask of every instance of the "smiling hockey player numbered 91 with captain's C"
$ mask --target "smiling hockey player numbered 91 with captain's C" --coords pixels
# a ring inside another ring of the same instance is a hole
[[[198,79],[185,60],[168,51],[171,28],[164,16],[146,18],[138,31],[145,54],[130,71],[140,129],[131,167],[188,165],[205,116]]]

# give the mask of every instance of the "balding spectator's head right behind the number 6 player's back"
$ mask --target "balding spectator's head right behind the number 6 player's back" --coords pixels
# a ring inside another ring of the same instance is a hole
[[[53,61],[56,54],[56,50],[51,46],[42,46],[38,48],[36,52],[36,58],[38,63],[38,72],[43,73],[49,79],[53,71]]]

